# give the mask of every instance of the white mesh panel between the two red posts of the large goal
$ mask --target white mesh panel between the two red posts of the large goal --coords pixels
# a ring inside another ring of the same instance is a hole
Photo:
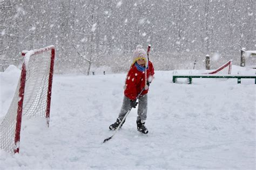
[[[51,51],[31,56],[26,68],[23,115],[44,117],[49,82]]]

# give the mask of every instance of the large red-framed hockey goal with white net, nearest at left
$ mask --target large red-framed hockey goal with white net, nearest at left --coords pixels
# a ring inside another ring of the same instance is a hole
[[[1,149],[19,152],[22,117],[45,117],[49,125],[55,47],[22,51],[21,77],[0,123]]]

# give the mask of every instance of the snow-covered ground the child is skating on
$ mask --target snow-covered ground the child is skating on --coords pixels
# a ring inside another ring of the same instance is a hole
[[[232,67],[232,73],[255,70]],[[193,79],[156,71],[150,85],[148,134],[137,131],[137,110],[113,139],[126,74],[53,76],[50,127],[23,117],[20,153],[0,150],[0,169],[255,169],[254,79]],[[20,71],[1,80],[1,113],[8,110]]]

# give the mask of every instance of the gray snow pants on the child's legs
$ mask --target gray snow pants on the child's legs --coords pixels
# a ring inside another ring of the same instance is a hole
[[[123,119],[125,113],[130,109],[130,99],[124,96],[123,105],[121,111],[118,115],[119,118]],[[137,119],[146,120],[147,119],[147,94],[139,97],[138,104],[138,117]]]

